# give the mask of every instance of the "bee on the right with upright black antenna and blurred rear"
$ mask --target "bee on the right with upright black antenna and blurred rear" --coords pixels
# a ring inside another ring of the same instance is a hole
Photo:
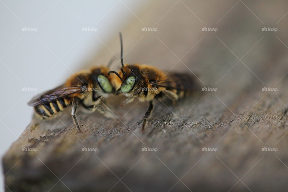
[[[116,71],[109,73],[115,73],[118,76],[118,78],[113,78],[116,94],[123,93],[128,97],[123,104],[132,102],[136,97],[140,101],[149,101],[149,108],[143,118],[142,130],[144,130],[153,110],[154,98],[167,96],[173,103],[176,103],[186,93],[196,91],[198,86],[196,79],[188,73],[165,73],[150,65],[124,64],[122,35],[121,33],[119,35],[122,66],[118,73]]]

